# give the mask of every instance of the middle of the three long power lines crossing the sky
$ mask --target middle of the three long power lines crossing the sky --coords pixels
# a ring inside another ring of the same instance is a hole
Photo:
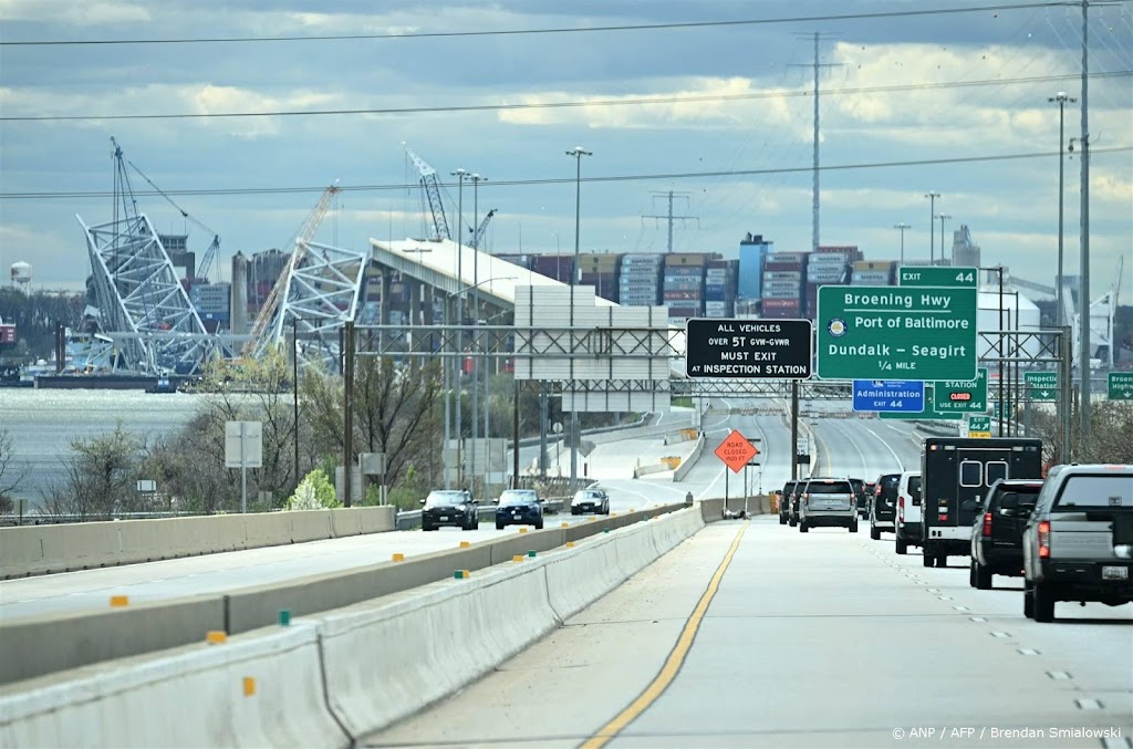
[[[1108,70],[1090,74],[1090,78],[1117,78],[1133,76],[1133,70]],[[1077,80],[1081,76],[1051,75],[1024,78],[988,78],[983,80],[959,80],[943,83],[910,83],[893,86],[862,86],[854,88],[829,88],[825,94],[884,94],[905,91],[932,91],[940,88],[973,88],[978,86],[1022,85],[1032,83],[1056,83]],[[704,94],[692,96],[648,96],[640,99],[602,99],[595,101],[529,102],[526,104],[465,104],[452,107],[391,107],[382,109],[321,109],[276,110],[269,112],[184,112],[179,114],[35,114],[0,117],[0,122],[58,122],[91,120],[190,120],[233,119],[239,117],[329,117],[348,114],[440,114],[453,112],[500,112],[531,109],[572,109],[580,107],[632,107],[638,104],[681,104],[689,102],[748,101],[757,99],[791,99],[812,96],[810,91],[772,91],[750,94]]]

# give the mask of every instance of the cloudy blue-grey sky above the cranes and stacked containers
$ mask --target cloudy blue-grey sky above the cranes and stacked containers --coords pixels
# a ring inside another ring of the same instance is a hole
[[[895,259],[894,224],[908,223],[906,258],[927,259],[925,194],[937,191],[949,248],[964,224],[983,264],[1054,282],[1058,107],[1047,100],[1082,99],[1081,10],[1057,2],[0,0],[0,267],[32,263],[37,287],[88,273],[75,214],[112,215],[111,136],[220,235],[225,279],[236,250],[287,246],[334,180],[343,191],[321,241],[428,233],[403,144],[443,176],[454,233],[450,172],[487,179],[475,202],[466,184],[463,222],[474,203],[482,216],[496,208],[494,253],[573,250],[576,145],[594,154],[581,163],[583,252],[664,252],[665,222],[647,216],[668,210],[670,190],[673,212],[693,216],[675,224],[676,250],[734,248],[749,231],[807,249],[815,33],[829,66],[821,242]],[[1124,253],[1127,304],[1133,1],[1090,10],[1089,56],[1091,296]],[[264,116],[218,117],[233,113]],[[1065,114],[1066,138],[1079,137],[1079,105]],[[1075,147],[1067,274],[1080,256]],[[203,253],[211,235],[130,177],[159,231],[187,229]]]

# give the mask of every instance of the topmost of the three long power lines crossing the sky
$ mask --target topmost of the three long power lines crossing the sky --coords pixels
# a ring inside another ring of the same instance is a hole
[[[484,32],[417,32],[385,34],[326,34],[303,36],[203,36],[174,39],[102,39],[102,40],[29,40],[3,41],[0,46],[77,46],[77,45],[113,45],[113,44],[245,44],[259,42],[340,42],[352,40],[408,40],[408,39],[449,39],[471,36],[522,36],[534,34],[580,34],[595,32],[637,32],[664,31],[673,28],[710,28],[726,26],[763,26],[770,24],[804,24],[828,20],[868,20],[874,18],[903,18],[913,16],[942,16],[952,14],[969,14],[997,10],[1030,10],[1065,5],[1065,0],[1046,2],[1024,2],[996,6],[968,6],[953,8],[929,8],[921,10],[886,10],[877,12],[841,14],[826,16],[793,16],[780,18],[747,18],[739,20],[692,20],[670,24],[625,24],[620,26],[583,26],[581,28],[512,28]]]

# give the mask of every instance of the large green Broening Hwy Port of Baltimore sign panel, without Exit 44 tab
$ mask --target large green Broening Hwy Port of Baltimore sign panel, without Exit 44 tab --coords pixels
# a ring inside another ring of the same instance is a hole
[[[974,286],[823,286],[816,324],[823,380],[976,378]]]

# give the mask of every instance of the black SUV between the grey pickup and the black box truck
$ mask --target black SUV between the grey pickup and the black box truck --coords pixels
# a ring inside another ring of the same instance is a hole
[[[983,514],[972,526],[972,565],[968,582],[991,588],[991,576],[1023,576],[1023,528],[1034,509],[1042,482],[1034,478],[1000,478],[988,490]]]

